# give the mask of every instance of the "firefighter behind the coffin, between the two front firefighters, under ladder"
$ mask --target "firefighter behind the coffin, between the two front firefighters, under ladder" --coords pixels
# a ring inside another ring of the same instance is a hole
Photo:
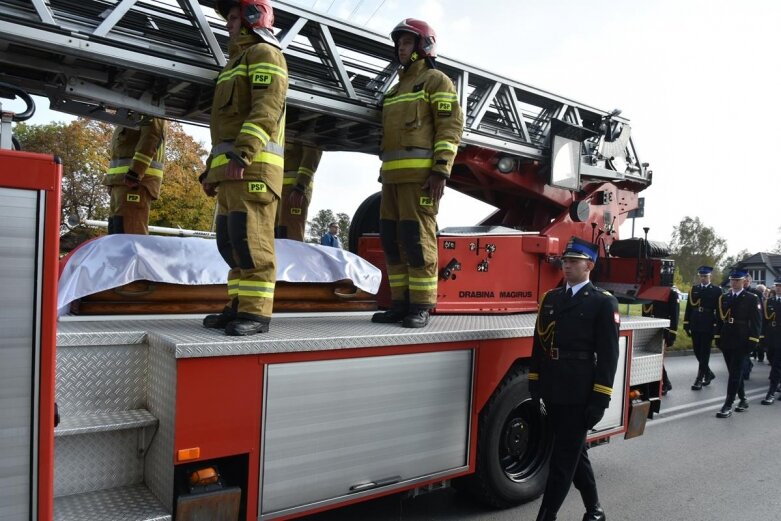
[[[304,240],[315,172],[323,151],[300,143],[285,143],[285,177],[277,212],[276,237]]]

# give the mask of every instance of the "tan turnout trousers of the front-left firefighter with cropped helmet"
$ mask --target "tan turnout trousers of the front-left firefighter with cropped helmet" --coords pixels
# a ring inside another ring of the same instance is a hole
[[[239,313],[271,318],[277,280],[274,218],[278,201],[264,183],[219,184],[217,247],[230,267],[228,306]]]

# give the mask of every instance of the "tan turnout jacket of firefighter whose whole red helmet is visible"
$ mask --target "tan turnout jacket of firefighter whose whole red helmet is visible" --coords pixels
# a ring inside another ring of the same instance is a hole
[[[464,113],[453,82],[425,60],[399,73],[382,103],[383,183],[450,177],[464,130]]]

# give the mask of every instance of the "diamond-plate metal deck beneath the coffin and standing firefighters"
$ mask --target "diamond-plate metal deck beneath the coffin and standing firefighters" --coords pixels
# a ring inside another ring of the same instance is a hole
[[[374,324],[368,313],[338,316],[274,317],[271,331],[249,338],[227,337],[205,329],[198,319],[61,321],[58,345],[129,344],[144,338],[150,345],[171,349],[176,358],[277,354],[395,345],[432,344],[529,337],[535,313],[516,315],[434,315],[423,329],[403,329],[398,324]],[[622,330],[658,329],[667,320],[624,316]],[[92,336],[94,335],[94,336]],[[62,344],[60,344],[62,342]]]

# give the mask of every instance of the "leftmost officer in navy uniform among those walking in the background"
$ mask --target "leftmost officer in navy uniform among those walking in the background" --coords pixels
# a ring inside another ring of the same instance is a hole
[[[716,377],[708,364],[710,363],[711,343],[716,327],[716,306],[721,296],[721,290],[711,284],[712,272],[713,268],[710,266],[697,268],[700,283],[692,286],[689,291],[686,311],[683,315],[683,330],[692,338],[694,356],[699,362],[697,378],[692,384],[693,391],[699,391],[703,385],[710,385],[711,380]]]

